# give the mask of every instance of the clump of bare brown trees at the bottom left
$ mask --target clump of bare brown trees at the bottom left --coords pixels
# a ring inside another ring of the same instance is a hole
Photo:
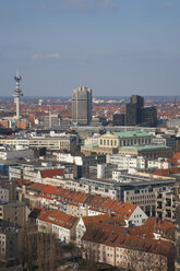
[[[53,271],[62,252],[52,234],[39,233],[34,224],[25,224],[19,233],[19,258],[23,270]]]

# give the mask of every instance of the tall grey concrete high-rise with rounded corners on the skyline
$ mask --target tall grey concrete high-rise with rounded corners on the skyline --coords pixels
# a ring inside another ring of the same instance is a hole
[[[79,87],[73,91],[72,122],[87,126],[92,121],[92,90]]]

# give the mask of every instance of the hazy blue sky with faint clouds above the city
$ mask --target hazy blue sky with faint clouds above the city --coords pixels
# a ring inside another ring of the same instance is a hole
[[[0,96],[180,95],[179,0],[0,0]]]

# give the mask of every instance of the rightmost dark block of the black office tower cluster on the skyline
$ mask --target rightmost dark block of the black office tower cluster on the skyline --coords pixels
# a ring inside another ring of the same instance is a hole
[[[142,109],[142,126],[146,126],[146,127],[157,126],[157,108],[155,106],[144,107]]]

